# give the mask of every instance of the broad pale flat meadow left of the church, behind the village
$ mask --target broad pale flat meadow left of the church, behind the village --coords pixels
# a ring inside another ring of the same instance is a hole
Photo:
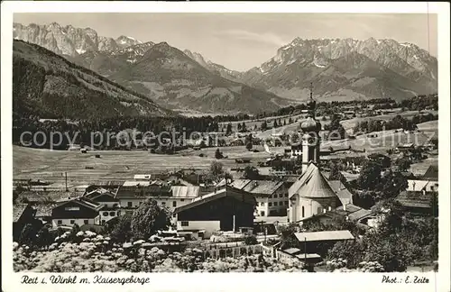
[[[220,160],[226,169],[235,166],[235,158],[252,159],[253,164],[265,160],[268,153],[262,146],[261,152],[246,151],[242,147],[222,147],[228,159]],[[201,151],[182,151],[175,155],[151,154],[148,151],[49,151],[13,147],[14,179],[41,179],[50,181],[55,186],[64,184],[63,173],[68,172],[69,187],[86,185],[99,180],[132,179],[134,174],[158,173],[165,170],[207,169],[215,160],[216,148]],[[275,151],[281,151],[275,149]],[[199,157],[200,153],[207,157]],[[100,154],[101,158],[95,158]],[[93,167],[93,169],[86,169]]]

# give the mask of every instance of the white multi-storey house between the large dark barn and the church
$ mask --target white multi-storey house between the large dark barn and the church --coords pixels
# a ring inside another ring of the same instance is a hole
[[[255,196],[257,216],[284,215],[287,212],[288,188],[282,180],[235,179],[230,187]]]

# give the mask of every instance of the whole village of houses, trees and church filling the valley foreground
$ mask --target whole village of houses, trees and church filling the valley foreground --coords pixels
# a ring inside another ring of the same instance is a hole
[[[268,124],[263,120],[258,121],[259,127],[255,123],[251,132],[239,131],[245,125],[236,123],[235,130],[225,129],[235,134],[217,132],[211,139],[191,142],[189,150],[182,151],[189,151],[192,161],[208,156],[204,169],[168,168],[143,173],[134,166],[119,179],[85,179],[81,181],[87,181],[86,185],[69,182],[69,187],[67,172],[61,173],[59,179],[65,183],[57,187],[45,178],[15,179],[14,269],[38,269],[38,262],[47,259],[45,253],[62,252],[68,246],[76,251],[82,243],[91,244],[87,247],[90,252],[98,256],[105,253],[110,260],[124,255],[130,260],[138,257],[136,254],[149,256],[151,252],[151,258],[160,260],[161,265],[164,260],[177,261],[180,254],[182,258],[189,254],[203,262],[257,257],[258,267],[277,264],[281,270],[401,271],[408,265],[412,269],[421,265],[437,269],[437,253],[433,251],[437,242],[424,242],[415,251],[430,252],[422,261],[396,255],[405,261],[400,266],[392,260],[379,262],[382,258],[378,261],[373,251],[364,251],[356,261],[345,252],[382,236],[387,229],[395,230],[393,234],[407,232],[402,224],[392,224],[395,217],[410,224],[431,222],[429,227],[437,226],[437,166],[423,162],[437,157],[437,142],[406,139],[421,135],[410,126],[329,139],[336,129],[325,128],[333,121],[318,118],[312,98],[306,107],[288,122],[270,119],[280,123],[281,130],[293,127],[294,134],[268,134]],[[355,106],[342,110],[344,115],[335,119],[353,119],[356,110],[363,114]],[[224,127],[230,128],[228,124]],[[395,133],[407,142],[385,148],[355,144]],[[225,141],[215,144],[212,140],[217,136]],[[289,139],[290,146],[285,146]],[[206,149],[208,154],[203,152]],[[231,149],[244,154],[234,155]],[[103,160],[106,155],[87,147],[69,149],[74,150],[79,156],[94,152],[90,160]],[[159,151],[161,148],[149,151],[149,155],[160,155],[162,161],[173,157]],[[413,173],[410,167],[415,164],[426,164],[426,168]],[[86,166],[85,170],[96,168]],[[133,224],[143,224],[143,230],[150,231],[129,234],[136,229]],[[428,232],[431,238],[437,236]],[[46,239],[36,240],[44,236]],[[41,252],[41,260],[25,264],[36,252]],[[123,268],[131,269],[129,264],[124,263]],[[176,265],[177,269],[195,269]]]

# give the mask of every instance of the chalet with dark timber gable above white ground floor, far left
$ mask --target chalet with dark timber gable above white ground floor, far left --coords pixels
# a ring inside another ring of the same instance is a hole
[[[53,227],[78,224],[100,224],[99,211],[104,205],[91,201],[85,196],[77,196],[60,201],[51,210]]]

